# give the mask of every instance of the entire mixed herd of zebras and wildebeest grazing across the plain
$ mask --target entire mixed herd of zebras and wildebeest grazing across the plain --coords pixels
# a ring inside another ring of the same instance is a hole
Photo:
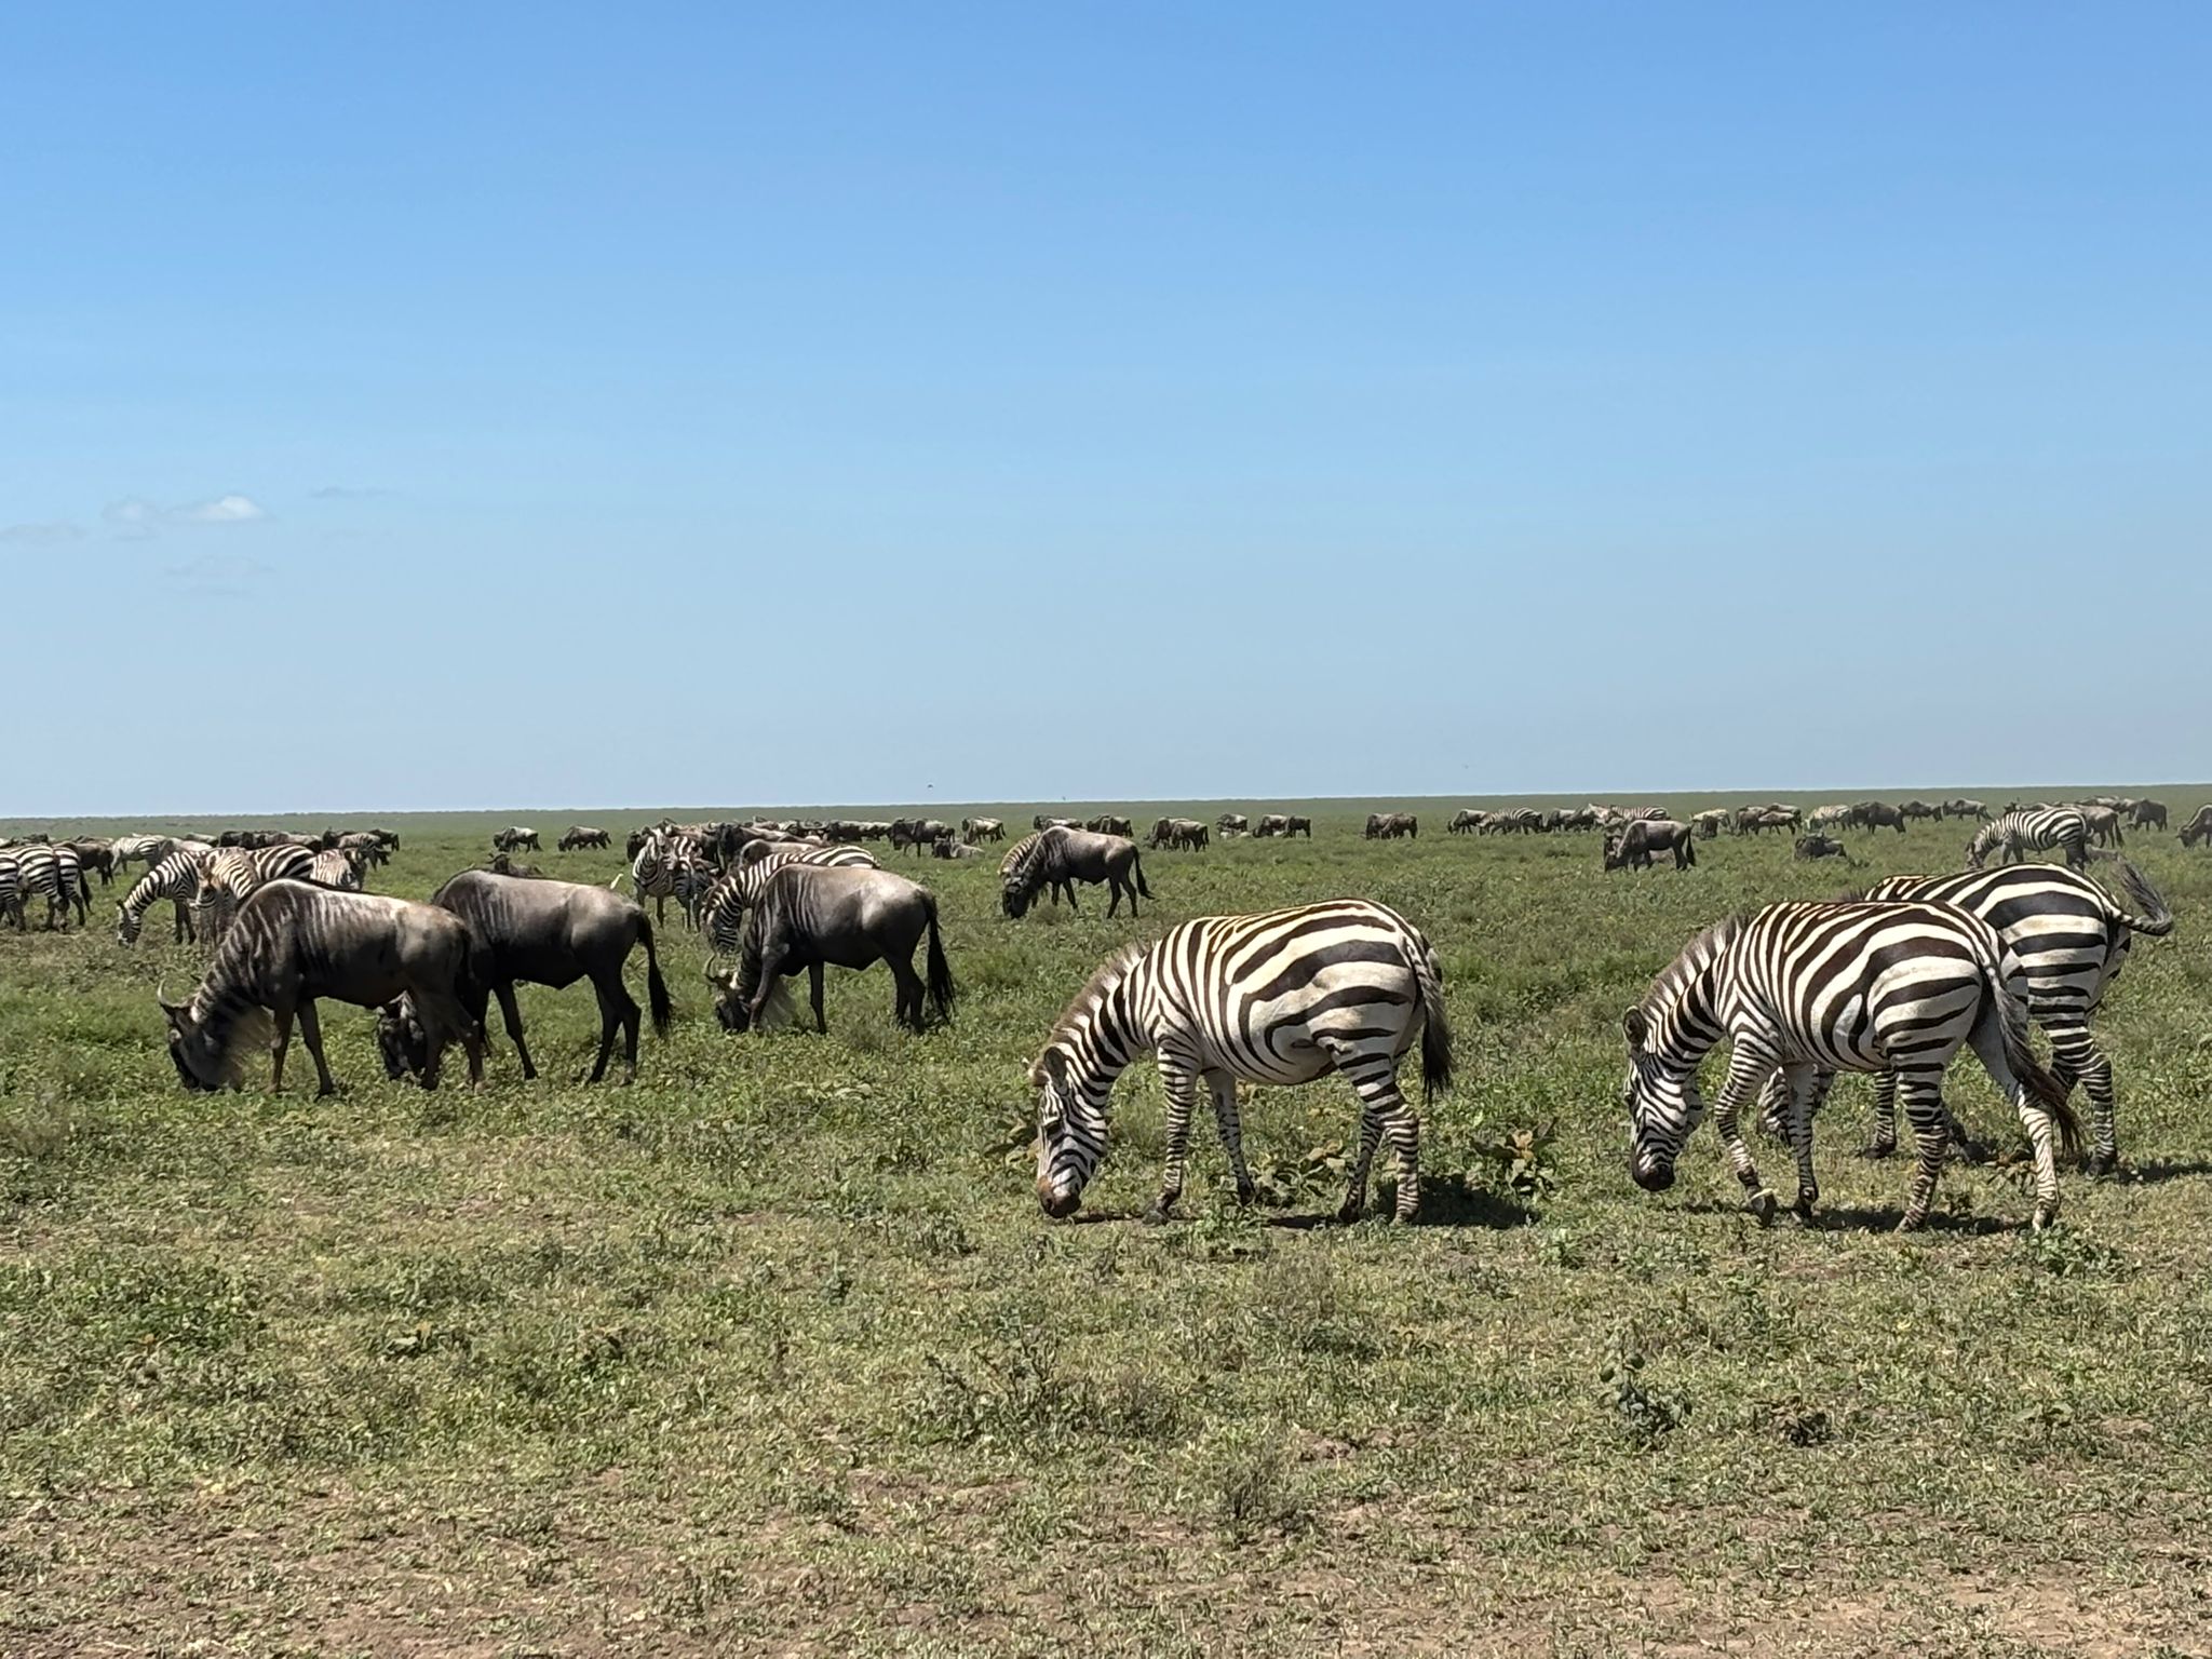
[[[2095,799],[2077,805],[1980,801],[1818,807],[1787,803],[1699,812],[1686,821],[1661,807],[1573,812],[1460,812],[1453,834],[1604,836],[1604,865],[1648,867],[1670,854],[1697,863],[1697,843],[1723,832],[1805,832],[1834,843],[1829,827],[1902,830],[1916,818],[1969,818],[1975,834],[1962,874],[1900,876],[1865,896],[1825,905],[1770,905],[1699,933],[1626,1013],[1632,1124],[1630,1175],[1650,1190],[1672,1183],[1674,1159],[1703,1117],[1697,1073],[1721,1037],[1732,1060],[1714,1102],[1714,1124],[1761,1217],[1776,1208],[1761,1181],[1743,1117],[1759,1110],[1798,1172],[1798,1212],[1818,1188],[1812,1172],[1812,1121],[1840,1071],[1874,1073],[1874,1155],[1898,1146],[1902,1104],[1916,1172],[1900,1225],[1924,1219],[1938,1170],[1962,1139],[1942,1104],[1940,1077],[1971,1046],[2013,1102],[2035,1155],[2035,1225],[2059,1208],[2057,1150],[2081,1150],[2070,1106],[2075,1084],[2090,1104],[2086,1168],[2106,1172],[2119,1155],[2112,1066],[2090,1033],[2090,1015],[2119,973],[2137,933],[2161,938],[2172,914],[2119,852],[2121,823],[2163,827],[2157,801]],[[1082,823],[1037,814],[1031,834],[1006,847],[1000,907],[1020,920],[1044,896],[1075,907],[1077,885],[1108,889],[1108,916],[1152,898],[1146,849],[1203,849],[1210,838],[1312,836],[1294,814],[1223,814],[1212,825],[1159,818],[1139,847],[1126,816]],[[2212,805],[2181,827],[2185,845],[2212,843]],[[1365,838],[1418,836],[1413,814],[1378,812]],[[998,818],[695,823],[659,821],[628,834],[626,869],[635,896],[615,887],[546,878],[515,854],[540,849],[526,825],[500,830],[489,869],[465,869],[427,905],[365,891],[398,836],[387,830],[323,834],[226,832],[210,838],[122,836],[115,841],[20,841],[0,845],[0,914],[27,927],[24,905],[44,898],[49,927],[88,916],[88,876],[111,883],[144,865],[117,905],[117,940],[139,938],[161,900],[175,909],[175,938],[212,947],[206,975],[186,1002],[161,1000],[168,1048],[188,1088],[237,1086],[252,1053],[272,1055],[281,1086],[294,1024],[316,1066],[321,1093],[334,1088],[323,1055],[319,1000],[376,1009],[378,1048],[392,1077],[434,1088],[445,1053],[460,1044],[471,1082],[482,1079],[484,1020],[498,1000],[524,1079],[538,1075],[515,984],[568,987],[591,980],[599,1004],[599,1053],[591,1082],[604,1079],[615,1040],[622,1079],[637,1075],[644,1011],[624,969],[646,956],[646,991],[657,1033],[672,1020],[655,929],[666,902],[708,947],[714,1013],[728,1031],[761,1024],[785,1002],[785,984],[810,980],[816,1029],[827,967],[885,962],[894,1013],[909,1031],[951,1018],[958,1000],[936,898],[885,869],[869,841],[894,852],[975,856],[1002,843]],[[1840,847],[1840,843],[1834,843]],[[555,843],[613,847],[606,830],[575,825]],[[2031,863],[2055,852],[2064,863]],[[1849,854],[1843,854],[1849,856]],[[2086,872],[2106,858],[2119,896]],[[1993,863],[1995,860],[1995,863]],[[646,911],[653,902],[653,914]],[[920,969],[916,953],[920,951]],[[2053,1060],[2028,1046],[2044,1026]],[[1398,1166],[1396,1210],[1420,1206],[1418,1117],[1398,1091],[1398,1064],[1420,1044],[1429,1093],[1449,1086],[1451,1033],[1442,973],[1413,922],[1365,898],[1301,905],[1263,916],[1214,916],[1170,929],[1152,945],[1115,951],[1055,1022],[1031,1071],[1037,1091],[1037,1201],[1062,1217],[1079,1206],[1084,1183],[1106,1152],[1113,1079],[1152,1053],[1168,1095],[1168,1159],[1155,1214],[1172,1210],[1188,1152],[1199,1088],[1214,1106],[1241,1197],[1245,1168],[1237,1084],[1298,1084],[1343,1073],[1360,1099],[1360,1146],[1343,1214],[1365,1203],[1369,1166],[1389,1141]]]

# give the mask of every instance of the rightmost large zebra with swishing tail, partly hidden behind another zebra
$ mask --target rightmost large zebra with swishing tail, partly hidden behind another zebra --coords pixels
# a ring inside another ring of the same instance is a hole
[[[2126,858],[2119,860],[2119,887],[2128,902],[2141,909],[2128,914],[2112,896],[2057,865],[2008,865],[1966,872],[1962,876],[1891,876],[1876,883],[1869,900],[1918,898],[1958,905],[1969,916],[1989,922],[2004,949],[2028,975],[2028,1018],[2051,1033],[2051,1075],[2070,1091],[2075,1079],[2088,1091],[2090,1175],[2108,1175],[2119,1164],[2119,1135],[2112,1113],[2112,1062],[2097,1046],[2088,1018],[2128,962],[2135,933],[2166,938],[2174,916],[2166,900]],[[1818,1079],[1814,1108],[1827,1097],[1832,1073]],[[1781,1088],[1767,1084],[1767,1121],[1778,1121]],[[1874,1141],[1867,1157],[1889,1157],[1898,1150],[1898,1084],[1882,1073],[1874,1079]]]

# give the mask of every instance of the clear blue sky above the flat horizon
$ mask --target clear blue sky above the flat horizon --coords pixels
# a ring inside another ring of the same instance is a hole
[[[2212,776],[2201,7],[0,38],[0,814]]]

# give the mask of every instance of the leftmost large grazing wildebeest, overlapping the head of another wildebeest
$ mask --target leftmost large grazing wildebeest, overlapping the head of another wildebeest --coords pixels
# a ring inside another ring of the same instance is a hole
[[[168,1055],[186,1088],[234,1088],[243,1055],[268,1044],[274,1015],[274,1093],[283,1088],[296,1018],[316,1093],[330,1095],[338,1086],[323,1060],[316,998],[380,1009],[411,993],[425,1033],[422,1086],[438,1086],[440,1062],[456,1040],[469,1053],[469,1082],[482,1082],[484,1029],[465,1002],[473,956],[467,922],[431,905],[272,880],[239,905],[192,998],[161,1002]]]

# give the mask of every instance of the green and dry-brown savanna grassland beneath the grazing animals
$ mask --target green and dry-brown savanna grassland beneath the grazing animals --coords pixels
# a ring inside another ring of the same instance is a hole
[[[1009,922],[995,856],[920,860],[962,987],[925,1037],[880,969],[830,975],[827,1037],[728,1037],[670,911],[679,1024],[628,1091],[575,1082],[580,987],[522,991],[533,1086],[500,1035],[480,1093],[389,1084],[325,1004],[336,1099],[303,1055],[188,1097],[166,905],[135,949],[122,885],[0,933],[0,1652],[2212,1652],[2212,852],[2130,836],[2179,929],[2099,1026],[2121,1179],[2068,1175],[2033,1239],[2015,1164],[1953,1168],[1896,1237],[1847,1079],[1825,1214],[1761,1230],[1710,1128],[1628,1183],[1621,1009],[1723,911],[1951,869],[1969,827],[1604,876],[1593,836],[1420,803],[1367,845],[1365,810],[1146,854],[1139,922],[1099,889]],[[557,854],[540,814],[531,858],[604,883],[641,816]],[[495,821],[389,823],[372,887],[420,898]],[[1201,1124],[1141,1225],[1150,1066],[1048,1223],[1022,1071],[1093,964],[1334,894],[1444,962],[1422,1223],[1312,1225],[1356,1124],[1327,1082],[1252,1097],[1263,1206]],[[1971,1060],[1953,1099],[2022,1146]]]

